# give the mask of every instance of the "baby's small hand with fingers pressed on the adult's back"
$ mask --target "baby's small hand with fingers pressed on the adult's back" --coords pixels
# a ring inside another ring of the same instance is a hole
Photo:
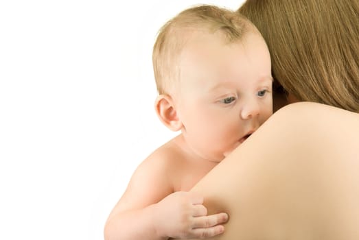
[[[224,231],[227,213],[207,216],[203,197],[192,192],[176,192],[156,206],[155,224],[163,237],[178,239],[207,238]]]

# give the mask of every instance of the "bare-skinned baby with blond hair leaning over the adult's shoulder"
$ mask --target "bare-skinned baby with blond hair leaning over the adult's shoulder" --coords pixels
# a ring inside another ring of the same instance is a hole
[[[189,190],[272,115],[268,48],[240,14],[200,5],[163,25],[152,60],[155,110],[181,134],[137,167],[105,238],[219,235],[227,213],[207,215],[203,197]]]

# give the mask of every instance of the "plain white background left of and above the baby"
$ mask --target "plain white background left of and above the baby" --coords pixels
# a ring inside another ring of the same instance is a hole
[[[159,27],[243,1],[1,1],[0,239],[103,239],[132,172],[176,134],[153,108]]]

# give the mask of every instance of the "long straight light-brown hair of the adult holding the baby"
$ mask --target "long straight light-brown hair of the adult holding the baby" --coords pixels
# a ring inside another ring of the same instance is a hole
[[[247,0],[273,77],[301,101],[359,112],[359,1]]]

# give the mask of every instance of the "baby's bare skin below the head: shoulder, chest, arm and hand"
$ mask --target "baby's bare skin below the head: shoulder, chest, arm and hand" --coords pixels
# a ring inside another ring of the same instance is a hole
[[[111,235],[106,239],[168,239],[171,234],[183,238],[223,232],[220,224],[228,215],[207,215],[203,197],[188,192],[217,163],[194,159],[181,145],[182,135],[157,149],[137,168],[108,217],[106,228],[111,228]]]

